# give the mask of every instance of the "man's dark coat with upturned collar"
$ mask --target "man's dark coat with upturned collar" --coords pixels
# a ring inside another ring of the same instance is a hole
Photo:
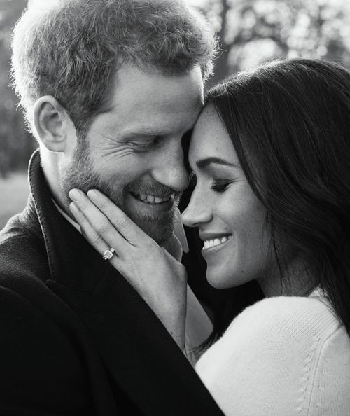
[[[34,153],[0,234],[0,415],[222,415],[153,311],[52,203]]]

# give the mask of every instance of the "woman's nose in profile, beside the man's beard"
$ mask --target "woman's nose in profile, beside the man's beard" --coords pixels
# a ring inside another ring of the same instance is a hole
[[[212,217],[208,198],[196,186],[188,206],[181,214],[183,223],[188,227],[200,227],[204,223],[209,223]]]

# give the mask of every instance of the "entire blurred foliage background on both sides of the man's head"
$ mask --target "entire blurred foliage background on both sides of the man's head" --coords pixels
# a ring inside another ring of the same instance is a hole
[[[324,57],[350,67],[350,0],[186,1],[207,16],[220,38],[210,85],[278,57]],[[0,0],[0,176],[25,167],[36,147],[8,86],[10,32],[25,5]]]

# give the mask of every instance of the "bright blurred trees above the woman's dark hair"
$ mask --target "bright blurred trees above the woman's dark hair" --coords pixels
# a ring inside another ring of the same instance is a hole
[[[278,57],[324,57],[350,67],[349,0],[188,0],[221,43],[216,83]]]

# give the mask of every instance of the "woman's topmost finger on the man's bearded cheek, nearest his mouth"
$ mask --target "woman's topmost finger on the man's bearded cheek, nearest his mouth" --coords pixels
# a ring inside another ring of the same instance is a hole
[[[89,190],[87,196],[107,216],[113,226],[130,244],[137,245],[144,238],[148,238],[148,235],[122,209],[117,207],[116,204],[106,197],[106,195],[99,192],[99,190]]]

